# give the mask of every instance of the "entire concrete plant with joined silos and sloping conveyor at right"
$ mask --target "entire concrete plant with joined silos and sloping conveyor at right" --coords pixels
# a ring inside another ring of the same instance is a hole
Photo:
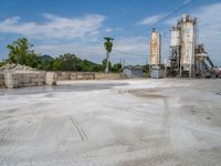
[[[183,14],[170,31],[170,55],[166,66],[167,76],[213,75],[214,65],[202,44],[197,43],[197,19]]]

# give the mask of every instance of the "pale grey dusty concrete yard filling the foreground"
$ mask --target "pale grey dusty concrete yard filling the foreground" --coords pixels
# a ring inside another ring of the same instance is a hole
[[[1,166],[220,166],[221,80],[0,91]]]

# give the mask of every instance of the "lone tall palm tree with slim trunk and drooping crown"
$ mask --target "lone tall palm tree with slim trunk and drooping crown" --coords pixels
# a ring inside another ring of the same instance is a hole
[[[106,50],[106,69],[105,69],[105,72],[108,73],[109,72],[109,53],[112,52],[112,48],[113,48],[113,42],[112,40],[114,40],[113,38],[109,38],[109,37],[105,37],[104,38],[106,41],[104,43],[104,48]]]

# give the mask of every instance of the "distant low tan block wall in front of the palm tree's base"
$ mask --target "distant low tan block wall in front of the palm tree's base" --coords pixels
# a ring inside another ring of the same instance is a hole
[[[122,73],[95,73],[95,72],[56,72],[57,80],[119,80]]]

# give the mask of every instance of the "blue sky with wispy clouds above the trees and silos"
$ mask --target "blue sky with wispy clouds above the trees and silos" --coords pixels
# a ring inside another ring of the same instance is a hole
[[[0,59],[6,45],[25,37],[38,53],[75,53],[99,63],[103,37],[115,39],[110,60],[145,64],[149,32],[162,35],[162,59],[169,55],[169,29],[182,13],[199,19],[199,39],[221,65],[221,2],[219,0],[1,0]],[[120,52],[120,53],[119,53]]]

